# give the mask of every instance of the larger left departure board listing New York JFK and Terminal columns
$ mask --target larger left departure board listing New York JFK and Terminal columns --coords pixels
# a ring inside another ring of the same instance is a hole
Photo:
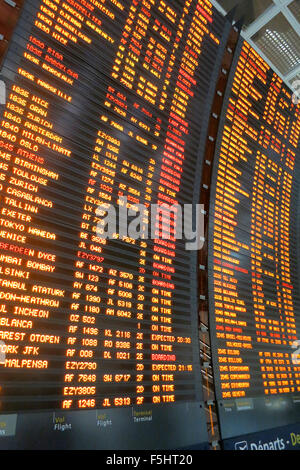
[[[154,240],[101,238],[97,208],[198,203],[225,24],[207,0],[25,2],[0,131],[0,410],[25,413],[0,446],[207,440],[197,253],[163,215]]]

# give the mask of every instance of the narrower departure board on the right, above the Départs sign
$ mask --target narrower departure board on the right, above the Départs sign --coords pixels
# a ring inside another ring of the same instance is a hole
[[[223,437],[300,418],[300,107],[242,43],[219,132],[209,294]]]

